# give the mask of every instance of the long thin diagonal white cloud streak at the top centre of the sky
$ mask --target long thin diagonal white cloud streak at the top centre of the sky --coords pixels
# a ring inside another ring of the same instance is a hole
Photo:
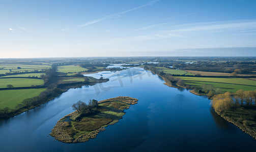
[[[130,11],[133,11],[133,10],[136,10],[136,9],[139,9],[139,8],[143,8],[143,7],[146,7],[146,6],[153,5],[158,1],[161,1],[161,0],[150,1],[150,2],[146,3],[145,5],[142,5],[140,7],[134,8],[134,9],[130,9],[130,10],[127,10],[127,11],[124,11],[124,12],[121,12],[121,13],[117,13],[117,14],[113,14],[113,15],[108,15],[108,16],[105,16],[105,17],[97,19],[97,20],[92,20],[92,21],[87,22],[86,24],[79,25],[79,27],[91,25],[91,24],[94,24],[94,23],[97,23],[97,22],[100,22],[100,21],[106,20],[106,19],[118,18],[118,17],[120,17],[120,14],[124,14],[126,12],[130,12]]]

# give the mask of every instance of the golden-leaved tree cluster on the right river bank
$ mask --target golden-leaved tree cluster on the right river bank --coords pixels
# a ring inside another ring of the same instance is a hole
[[[240,106],[255,107],[256,90],[255,91],[243,91],[238,90],[236,93],[226,92],[224,94],[215,95],[211,101],[212,107],[217,112],[225,112],[227,110],[234,110]]]

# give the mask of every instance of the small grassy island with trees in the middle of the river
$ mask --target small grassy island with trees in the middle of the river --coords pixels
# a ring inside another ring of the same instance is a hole
[[[124,109],[136,104],[138,99],[116,97],[102,101],[90,100],[89,105],[78,101],[73,104],[76,111],[56,123],[50,135],[66,143],[85,142],[96,138],[108,125],[117,123],[125,115]]]

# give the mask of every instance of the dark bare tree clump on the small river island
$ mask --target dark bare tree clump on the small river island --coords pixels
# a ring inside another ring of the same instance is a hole
[[[88,104],[79,100],[72,105],[73,110],[77,110],[80,114],[90,112],[95,107],[98,107],[98,101],[94,99],[90,99]]]

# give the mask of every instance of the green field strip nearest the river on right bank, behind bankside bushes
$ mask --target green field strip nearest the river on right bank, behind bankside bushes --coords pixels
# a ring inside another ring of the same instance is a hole
[[[221,88],[222,91],[225,92],[236,92],[238,90],[244,90],[244,91],[249,91],[249,90],[256,90],[256,86],[244,86],[244,85],[236,85],[236,84],[222,84],[222,83],[214,83],[214,82],[196,82],[196,81],[184,81],[186,85],[189,86],[195,86],[195,87],[201,87],[203,84],[207,85],[213,85],[216,88]]]

